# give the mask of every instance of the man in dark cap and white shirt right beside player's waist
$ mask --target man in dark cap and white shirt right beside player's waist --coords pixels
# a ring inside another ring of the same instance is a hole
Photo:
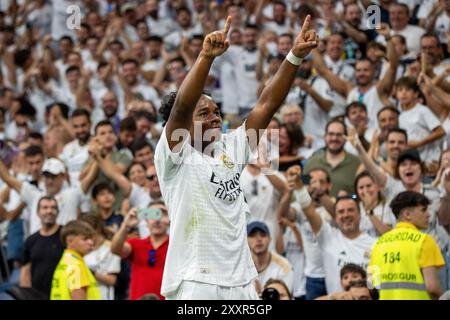
[[[267,280],[278,279],[293,292],[294,286],[294,270],[289,261],[276,253],[269,250],[269,244],[272,241],[270,231],[267,225],[261,221],[253,221],[247,226],[247,239],[252,252],[253,262],[258,271],[256,281],[256,289],[261,294]]]

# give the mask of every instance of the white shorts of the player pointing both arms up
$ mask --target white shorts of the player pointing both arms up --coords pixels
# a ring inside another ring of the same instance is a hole
[[[166,300],[259,300],[253,281],[239,287],[222,287],[215,284],[183,280]]]

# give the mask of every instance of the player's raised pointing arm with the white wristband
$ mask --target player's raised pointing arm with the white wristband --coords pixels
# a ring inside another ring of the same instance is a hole
[[[292,50],[281,64],[280,69],[278,69],[272,81],[264,88],[255,108],[248,116],[247,130],[267,128],[273,115],[283,103],[284,99],[286,99],[301,60],[318,45],[318,36],[314,30],[310,30],[310,26],[311,16],[308,15],[303,23],[300,34],[295,39]]]

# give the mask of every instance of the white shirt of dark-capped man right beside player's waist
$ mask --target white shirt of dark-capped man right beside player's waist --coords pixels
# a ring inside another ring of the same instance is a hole
[[[270,263],[262,272],[258,274],[258,280],[261,287],[264,287],[267,280],[279,279],[283,280],[292,294],[294,287],[294,270],[289,261],[274,251],[270,251]]]

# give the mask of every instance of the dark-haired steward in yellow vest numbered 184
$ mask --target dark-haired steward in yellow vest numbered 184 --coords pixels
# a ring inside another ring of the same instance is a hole
[[[434,239],[420,232],[428,227],[427,197],[399,193],[390,207],[397,226],[375,243],[368,272],[380,290],[380,300],[430,300],[442,294],[437,269],[444,258]]]

